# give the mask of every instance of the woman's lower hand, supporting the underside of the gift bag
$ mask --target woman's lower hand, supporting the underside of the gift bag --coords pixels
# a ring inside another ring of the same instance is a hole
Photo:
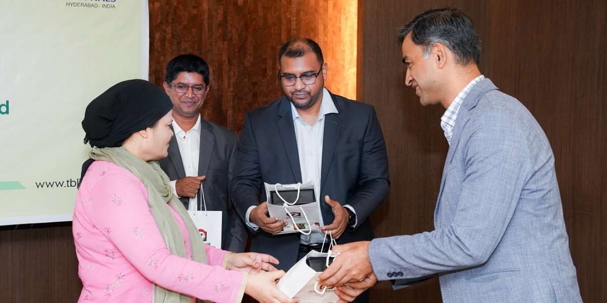
[[[283,270],[249,275],[249,279],[246,282],[245,293],[260,303],[299,302],[297,299],[290,299],[276,287],[276,280],[282,278],[283,275],[285,275],[285,271]]]

